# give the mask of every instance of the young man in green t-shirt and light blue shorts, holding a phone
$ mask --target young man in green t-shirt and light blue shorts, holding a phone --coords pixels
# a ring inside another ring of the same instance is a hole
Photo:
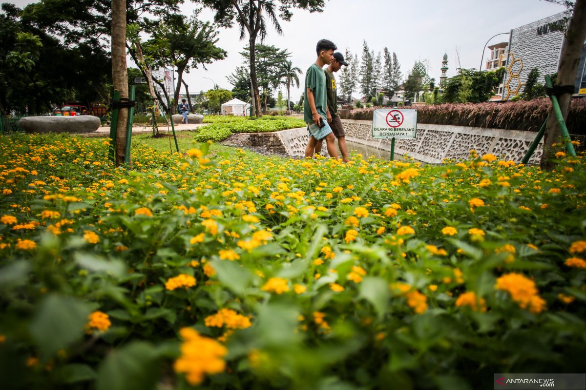
[[[305,148],[305,157],[313,157],[315,146],[319,140],[326,140],[328,153],[332,158],[338,158],[336,137],[332,133],[326,118],[328,118],[328,98],[326,97],[326,76],[323,65],[332,62],[333,51],[336,45],[327,39],[319,40],[315,51],[318,58],[305,73],[305,97],[303,104],[303,119],[307,123],[309,142]]]

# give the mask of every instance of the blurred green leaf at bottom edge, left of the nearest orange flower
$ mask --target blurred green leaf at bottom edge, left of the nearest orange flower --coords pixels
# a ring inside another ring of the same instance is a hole
[[[100,365],[97,390],[154,389],[159,377],[158,354],[144,341],[112,351]]]

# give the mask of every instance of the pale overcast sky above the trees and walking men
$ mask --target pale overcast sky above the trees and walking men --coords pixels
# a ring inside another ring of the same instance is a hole
[[[12,2],[22,7],[31,1]],[[196,8],[187,0],[182,12],[191,15]],[[342,53],[349,49],[359,57],[363,40],[375,53],[387,47],[397,53],[404,77],[414,61],[427,60],[430,76],[439,82],[444,53],[448,53],[448,77],[458,67],[456,50],[462,67],[478,68],[483,45],[491,36],[562,11],[563,6],[543,0],[326,0],[322,13],[294,10],[291,22],[281,21],[281,36],[271,26],[264,44],[291,52],[293,65],[304,73],[299,77],[302,85],[306,69],[316,59],[315,44],[322,38],[332,40]],[[213,20],[213,15],[213,11],[204,9],[200,19]],[[242,64],[239,53],[248,42],[239,40],[237,26],[219,30],[217,45],[228,52],[228,57],[208,65],[207,71],[193,69],[185,75],[192,94],[207,91],[213,82],[222,88],[233,88],[226,77]],[[489,44],[508,39],[508,35],[500,35]],[[488,56],[487,50],[482,58]],[[298,101],[301,92],[302,88],[292,88],[292,101]],[[359,96],[357,92],[354,95]]]

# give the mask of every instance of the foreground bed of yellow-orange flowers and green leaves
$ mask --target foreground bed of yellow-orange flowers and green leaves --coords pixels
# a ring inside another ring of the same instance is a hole
[[[6,388],[486,388],[581,372],[583,157],[282,160],[0,138]]]

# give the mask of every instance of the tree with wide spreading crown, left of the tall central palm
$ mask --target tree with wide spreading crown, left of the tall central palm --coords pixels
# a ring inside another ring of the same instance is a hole
[[[179,100],[183,73],[191,68],[223,60],[226,50],[216,46],[219,32],[209,22],[197,19],[197,9],[189,20],[178,14],[164,16],[161,20],[148,20],[147,29],[152,38],[144,44],[144,51],[154,58],[154,66],[177,67],[177,84],[173,93],[173,103]]]

